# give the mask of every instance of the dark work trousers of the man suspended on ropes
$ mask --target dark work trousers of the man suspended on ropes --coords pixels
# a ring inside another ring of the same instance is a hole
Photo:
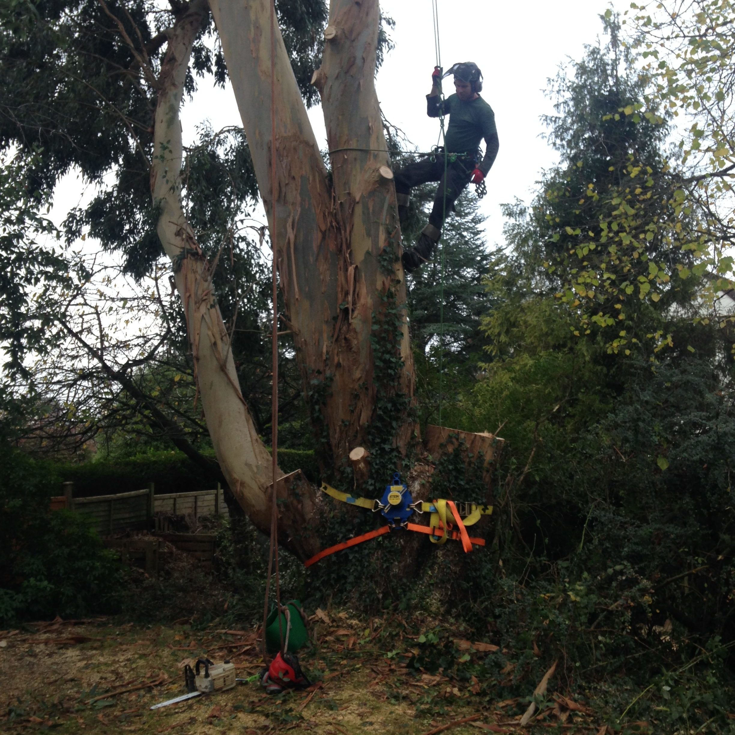
[[[434,160],[432,160],[434,159]],[[429,224],[442,229],[444,216],[452,211],[454,202],[470,183],[470,176],[475,168],[475,161],[470,157],[447,162],[447,176],[444,177],[444,154],[427,156],[415,163],[409,163],[395,174],[395,191],[398,194],[409,194],[412,187],[427,182],[440,182],[434,196],[434,207],[429,215]],[[447,200],[444,201],[446,192]]]

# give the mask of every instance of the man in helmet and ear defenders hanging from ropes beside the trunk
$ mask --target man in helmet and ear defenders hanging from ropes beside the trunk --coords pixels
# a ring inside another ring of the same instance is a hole
[[[456,93],[442,101],[442,79],[450,74],[454,76]],[[455,64],[443,76],[442,69],[437,66],[431,74],[431,92],[426,96],[426,112],[430,118],[449,115],[444,148],[437,149],[433,155],[411,163],[395,174],[401,224],[406,221],[412,187],[426,182],[440,182],[429,224],[421,231],[415,247],[404,250],[404,268],[409,273],[431,258],[431,252],[442,234],[445,215],[452,211],[454,202],[467,184],[483,182],[498,155],[495,113],[481,98],[481,91],[482,72],[473,62]],[[487,148],[480,162],[482,138]]]

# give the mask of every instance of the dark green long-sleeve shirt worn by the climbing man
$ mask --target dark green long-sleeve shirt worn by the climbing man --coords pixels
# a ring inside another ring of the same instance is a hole
[[[487,176],[500,147],[492,107],[480,96],[469,102],[463,102],[453,94],[446,98],[442,105],[440,96],[427,95],[426,112],[430,118],[438,118],[442,114],[449,115],[444,144],[450,153],[476,154],[480,141],[485,139],[487,144],[485,157],[477,168]]]

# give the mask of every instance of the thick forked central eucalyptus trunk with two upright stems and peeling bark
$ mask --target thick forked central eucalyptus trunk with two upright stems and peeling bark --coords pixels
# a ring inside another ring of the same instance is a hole
[[[395,187],[373,84],[379,3],[331,1],[323,66],[312,80],[322,95],[330,177],[277,25],[271,97],[271,2],[209,4],[276,232],[284,321],[334,470],[348,465],[356,445],[375,456],[378,441],[399,460],[414,429],[413,365]]]

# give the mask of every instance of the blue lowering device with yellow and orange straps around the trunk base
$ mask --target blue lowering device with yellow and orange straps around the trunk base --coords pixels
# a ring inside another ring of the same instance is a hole
[[[473,544],[477,546],[485,545],[485,539],[470,537],[467,534],[466,527],[477,523],[483,515],[492,514],[492,506],[478,506],[475,503],[455,503],[443,498],[431,502],[414,502],[408,486],[401,482],[400,473],[393,475],[392,484],[385,487],[379,500],[357,498],[348,492],[335,490],[326,482],[322,483],[321,489],[337,501],[348,503],[348,505],[356,505],[374,513],[379,512],[388,523],[387,526],[381,526],[381,528],[376,528],[374,531],[368,531],[367,534],[356,536],[320,551],[304,562],[305,567],[310,567],[325,556],[337,551],[343,551],[343,549],[350,548],[363,541],[369,541],[398,530],[428,534],[429,540],[434,544],[445,544],[448,539],[461,541],[465,553],[472,551]],[[410,523],[409,518],[414,513],[430,513],[429,526]]]

